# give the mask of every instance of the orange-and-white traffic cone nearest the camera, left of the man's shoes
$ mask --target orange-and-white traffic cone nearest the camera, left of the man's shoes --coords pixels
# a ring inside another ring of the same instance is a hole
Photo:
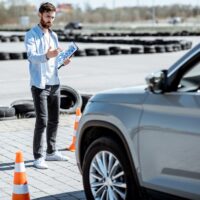
[[[30,200],[23,154],[16,152],[12,200]]]

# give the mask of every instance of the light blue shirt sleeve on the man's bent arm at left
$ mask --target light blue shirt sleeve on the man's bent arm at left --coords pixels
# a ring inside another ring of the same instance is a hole
[[[39,64],[47,62],[46,52],[38,53],[36,39],[31,31],[25,35],[25,47],[27,52],[27,58],[31,63]]]

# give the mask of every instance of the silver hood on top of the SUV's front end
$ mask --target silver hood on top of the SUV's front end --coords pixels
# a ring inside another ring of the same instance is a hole
[[[146,88],[146,85],[142,85],[106,90],[94,95],[90,102],[141,104],[148,95]]]

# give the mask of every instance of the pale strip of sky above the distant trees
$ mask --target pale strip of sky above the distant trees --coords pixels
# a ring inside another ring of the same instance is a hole
[[[88,2],[92,8],[106,6],[109,8],[121,7],[121,6],[152,6],[152,5],[171,5],[171,4],[184,4],[184,5],[193,5],[200,6],[200,0],[28,0],[33,4],[40,5],[43,2],[51,2],[53,4],[58,3],[71,3],[73,5],[79,5],[81,8],[85,7],[85,4]]]

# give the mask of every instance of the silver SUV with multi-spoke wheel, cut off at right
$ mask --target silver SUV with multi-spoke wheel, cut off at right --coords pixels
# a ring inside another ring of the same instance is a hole
[[[200,45],[146,81],[84,110],[76,159],[88,200],[200,199]]]

